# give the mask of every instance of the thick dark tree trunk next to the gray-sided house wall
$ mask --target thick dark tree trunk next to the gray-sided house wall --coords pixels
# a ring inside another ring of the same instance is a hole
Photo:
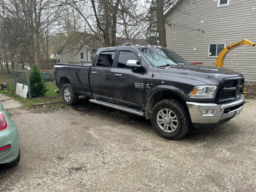
[[[163,0],[156,0],[157,3],[157,30],[159,34],[159,45],[166,47],[166,31],[164,27],[164,6]]]

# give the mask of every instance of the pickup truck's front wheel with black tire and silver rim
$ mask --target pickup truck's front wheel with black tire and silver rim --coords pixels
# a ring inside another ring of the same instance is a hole
[[[169,140],[179,140],[191,127],[188,109],[182,102],[174,99],[157,102],[151,113],[151,123],[163,138]]]

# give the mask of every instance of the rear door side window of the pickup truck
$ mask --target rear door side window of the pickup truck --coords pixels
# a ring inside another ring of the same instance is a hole
[[[103,51],[100,52],[96,66],[112,67],[116,51]]]

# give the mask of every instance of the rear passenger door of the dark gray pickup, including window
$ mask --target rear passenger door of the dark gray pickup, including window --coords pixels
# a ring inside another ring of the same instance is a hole
[[[113,65],[116,50],[100,52],[95,67],[90,70],[90,86],[95,99],[109,101],[114,97]]]

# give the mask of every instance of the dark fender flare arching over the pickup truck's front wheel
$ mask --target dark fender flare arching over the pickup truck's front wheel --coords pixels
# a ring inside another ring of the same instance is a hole
[[[147,94],[146,99],[146,109],[145,109],[145,117],[150,119],[150,113],[154,107],[154,105],[159,102],[160,100],[164,99],[176,99],[182,103],[186,103],[188,101],[188,96],[182,92],[179,88],[174,86],[168,85],[160,85],[154,87],[150,92]]]

